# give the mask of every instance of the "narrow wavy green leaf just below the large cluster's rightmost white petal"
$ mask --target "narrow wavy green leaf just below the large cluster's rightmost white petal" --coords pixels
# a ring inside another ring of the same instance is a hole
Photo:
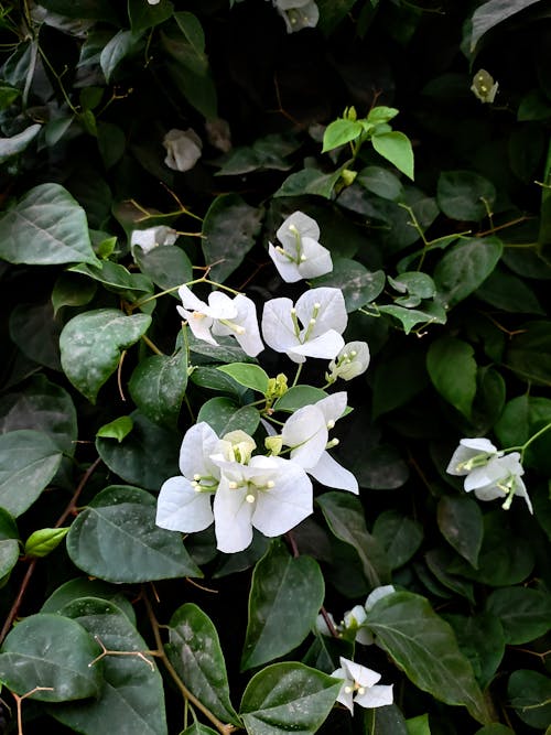
[[[390,581],[389,561],[377,540],[367,531],[358,498],[345,493],[325,493],[316,498],[332,532],[357,552],[371,587]]]

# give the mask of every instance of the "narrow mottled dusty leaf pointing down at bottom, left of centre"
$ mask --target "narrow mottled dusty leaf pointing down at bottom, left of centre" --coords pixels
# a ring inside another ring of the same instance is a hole
[[[239,726],[229,699],[226,662],[210,618],[193,603],[179,607],[169,624],[166,653],[182,681],[222,722]]]

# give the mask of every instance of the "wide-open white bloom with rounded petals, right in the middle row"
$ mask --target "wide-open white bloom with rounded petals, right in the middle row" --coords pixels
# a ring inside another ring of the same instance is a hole
[[[341,289],[322,287],[303,293],[295,306],[287,298],[268,301],[262,334],[272,349],[285,353],[293,363],[304,363],[306,357],[333,359],[344,347],[347,323]]]

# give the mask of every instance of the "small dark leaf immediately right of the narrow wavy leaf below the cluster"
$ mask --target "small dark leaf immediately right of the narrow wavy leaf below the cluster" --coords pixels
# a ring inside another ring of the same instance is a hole
[[[397,510],[385,510],[377,517],[374,539],[387,554],[390,570],[403,566],[423,541],[423,527]]]

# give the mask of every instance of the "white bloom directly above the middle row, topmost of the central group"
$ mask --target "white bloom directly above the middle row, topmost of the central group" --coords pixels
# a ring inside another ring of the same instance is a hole
[[[294,212],[278,229],[277,236],[281,245],[273,246],[270,242],[268,253],[288,283],[333,270],[331,253],[317,241],[320,227],[312,217]]]

